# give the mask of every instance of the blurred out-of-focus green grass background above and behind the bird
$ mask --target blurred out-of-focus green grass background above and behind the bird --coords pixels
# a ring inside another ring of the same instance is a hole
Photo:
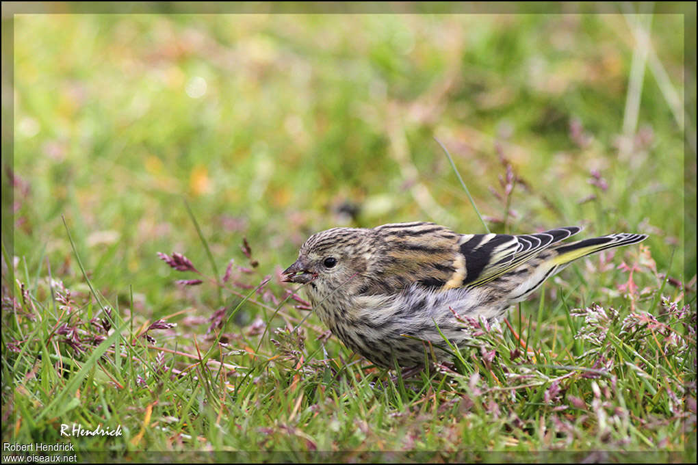
[[[205,257],[183,199],[219,267],[247,236],[262,274],[336,225],[480,232],[436,136],[494,231],[648,232],[660,268],[679,247],[678,277],[684,253],[695,270],[695,243],[683,250],[683,110],[649,67],[638,95],[628,89],[639,19],[683,98],[684,18],[624,8],[17,15],[15,255],[30,270],[44,256],[73,269],[65,215],[105,295],[133,284],[159,314],[177,302],[156,252]],[[502,156],[527,186],[508,215],[490,192],[502,190]],[[593,170],[607,190],[589,183]]]

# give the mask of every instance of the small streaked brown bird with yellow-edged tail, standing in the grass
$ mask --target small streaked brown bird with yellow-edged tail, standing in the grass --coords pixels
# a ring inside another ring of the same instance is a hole
[[[455,344],[468,340],[456,314],[499,321],[571,261],[647,238],[560,243],[579,231],[457,234],[431,222],[333,228],[313,234],[283,276],[309,284],[313,309],[350,349],[380,367],[416,367],[431,354],[447,359],[441,334]]]

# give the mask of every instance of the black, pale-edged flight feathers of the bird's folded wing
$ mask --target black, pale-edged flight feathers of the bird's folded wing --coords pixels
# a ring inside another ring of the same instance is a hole
[[[465,261],[465,273],[462,282],[452,287],[476,287],[495,280],[579,231],[581,227],[570,226],[520,236],[464,234],[459,241],[459,252]]]

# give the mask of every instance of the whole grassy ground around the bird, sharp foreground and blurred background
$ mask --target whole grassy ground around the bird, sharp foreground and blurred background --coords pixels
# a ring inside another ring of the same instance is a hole
[[[695,462],[695,129],[655,68],[629,85],[632,18],[16,17],[3,442],[101,462]],[[680,91],[683,25],[649,24]],[[412,378],[279,280],[328,227],[482,232],[470,195],[493,232],[650,238],[500,327],[464,321],[472,344]]]

